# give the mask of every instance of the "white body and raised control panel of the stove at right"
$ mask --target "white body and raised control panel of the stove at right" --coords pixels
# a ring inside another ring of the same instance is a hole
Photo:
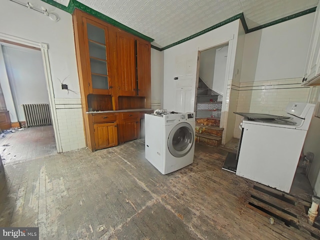
[[[290,102],[296,125],[243,120],[236,175],[289,192],[313,111],[314,104]]]

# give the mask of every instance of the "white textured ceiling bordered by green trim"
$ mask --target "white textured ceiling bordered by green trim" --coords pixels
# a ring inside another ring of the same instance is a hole
[[[56,0],[68,2],[68,0]],[[243,12],[248,28],[316,6],[318,0],[78,0],[166,46]]]

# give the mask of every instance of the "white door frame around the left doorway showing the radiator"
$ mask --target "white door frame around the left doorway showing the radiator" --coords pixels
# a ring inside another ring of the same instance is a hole
[[[45,75],[45,82],[46,82],[46,87],[47,87],[48,96],[49,96],[50,113],[52,117],[52,125],[54,130],[56,149],[57,149],[57,152],[62,152],[61,141],[60,141],[60,138],[58,137],[60,134],[59,134],[58,122],[57,122],[57,117],[55,112],[54,91],[53,91],[53,83],[52,83],[52,77],[51,77],[49,54],[48,54],[49,44],[24,39],[24,38],[9,35],[3,32],[0,32],[0,38],[3,40],[16,43],[17,45],[22,44],[22,45],[25,45],[26,47],[35,47],[37,49],[40,49],[41,56],[42,56],[43,70]]]

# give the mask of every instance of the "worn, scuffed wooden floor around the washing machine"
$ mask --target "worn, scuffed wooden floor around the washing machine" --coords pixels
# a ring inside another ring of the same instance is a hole
[[[221,169],[226,154],[196,144],[194,162],[167,175],[142,140],[12,161],[0,226],[39,226],[39,239],[304,239],[246,206],[252,182]]]

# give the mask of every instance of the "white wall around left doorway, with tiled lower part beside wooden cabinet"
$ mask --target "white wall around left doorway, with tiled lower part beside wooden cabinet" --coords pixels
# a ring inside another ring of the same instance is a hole
[[[26,0],[23,2],[26,3]],[[59,79],[64,78],[68,88],[79,92],[75,47],[73,39],[72,17],[69,13],[40,0],[32,0],[35,7],[44,6],[48,12],[54,12],[60,18],[58,22],[51,21],[48,17],[11,1],[1,1],[0,7],[0,32],[21,37],[24,39],[48,43],[49,61],[53,82],[55,108],[67,114],[72,111],[81,112],[80,95],[61,89]],[[3,91],[5,89],[2,89]],[[59,99],[59,103],[57,100]],[[63,99],[63,101],[61,101]],[[68,101],[67,99],[71,99]],[[75,99],[74,101],[72,99]],[[77,102],[72,104],[70,102]],[[62,104],[63,103],[63,104]],[[62,107],[63,108],[60,108]],[[73,108],[74,107],[74,108]],[[62,110],[61,110],[62,109]],[[56,110],[55,110],[56,111]],[[62,151],[77,149],[85,146],[84,129],[81,114],[73,114],[74,118],[58,118],[58,140],[60,134],[72,130],[72,134],[62,144]],[[68,125],[69,122],[75,122]]]

